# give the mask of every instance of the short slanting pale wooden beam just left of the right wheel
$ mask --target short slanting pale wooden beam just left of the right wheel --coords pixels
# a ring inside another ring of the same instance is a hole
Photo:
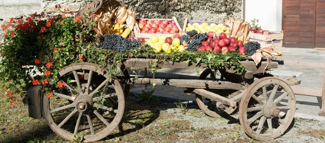
[[[233,100],[231,100],[229,98],[223,97],[223,96],[221,96],[219,94],[207,91],[205,89],[194,89],[193,92],[196,93],[196,94],[199,94],[201,96],[204,96],[206,98],[209,98],[211,100],[221,102],[222,104],[226,104],[226,105],[229,105],[229,106],[232,106],[232,107],[236,106],[235,101],[233,101]]]

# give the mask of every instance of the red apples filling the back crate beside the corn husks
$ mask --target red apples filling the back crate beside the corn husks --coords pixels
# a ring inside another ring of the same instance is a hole
[[[179,31],[175,21],[164,20],[145,20],[137,22],[142,33],[177,33]]]

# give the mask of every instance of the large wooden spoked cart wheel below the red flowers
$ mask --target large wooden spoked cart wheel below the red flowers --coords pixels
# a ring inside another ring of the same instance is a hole
[[[63,87],[56,88],[52,97],[43,96],[47,124],[65,139],[97,141],[109,135],[123,116],[125,102],[119,80],[97,67],[82,62],[62,68],[58,75]]]

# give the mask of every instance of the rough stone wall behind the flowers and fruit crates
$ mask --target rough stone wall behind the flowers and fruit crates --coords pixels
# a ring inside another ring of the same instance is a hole
[[[0,0],[0,24],[5,23],[10,17],[18,18],[34,12],[58,14],[64,12],[64,9],[76,12],[90,1],[92,0]],[[228,16],[242,17],[242,0],[122,0],[122,2],[136,7],[138,18],[175,16],[180,25],[183,24],[185,17],[202,21],[222,21]],[[61,8],[55,8],[56,4],[60,4]]]

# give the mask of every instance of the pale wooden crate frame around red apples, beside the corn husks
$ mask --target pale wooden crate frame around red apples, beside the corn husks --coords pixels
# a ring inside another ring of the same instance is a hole
[[[177,33],[148,33],[148,32],[141,32],[140,27],[138,25],[139,19],[136,19],[135,26],[133,28],[134,37],[135,38],[142,37],[145,40],[148,40],[153,35],[156,35],[156,36],[159,36],[159,35],[169,36],[169,35],[181,34],[182,33],[182,29],[179,26],[179,24],[178,24],[178,22],[176,20],[176,17],[174,17],[174,16],[171,19],[164,19],[164,18],[141,18],[141,19],[145,19],[146,21],[147,20],[160,20],[160,21],[161,20],[168,20],[168,21],[174,21],[179,31]]]

